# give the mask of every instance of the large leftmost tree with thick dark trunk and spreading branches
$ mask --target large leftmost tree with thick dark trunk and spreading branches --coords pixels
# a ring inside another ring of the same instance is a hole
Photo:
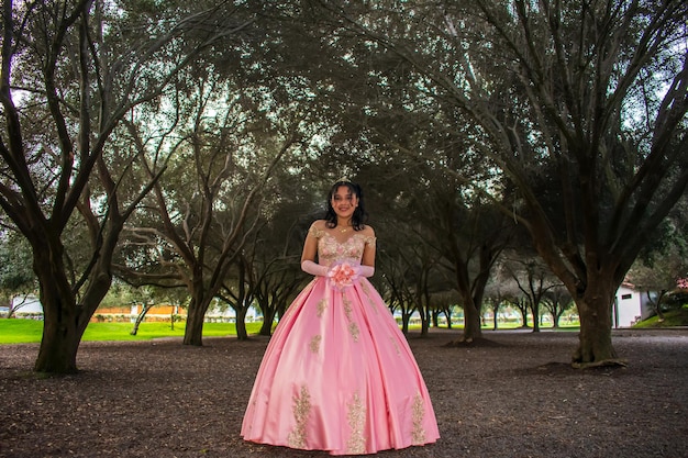
[[[77,370],[81,335],[112,281],[119,234],[149,190],[151,182],[127,186],[140,157],[111,145],[113,132],[202,49],[242,27],[226,27],[224,18],[219,26],[214,8],[137,5],[3,2],[0,206],[33,252],[44,310],[36,371]],[[79,224],[90,246],[86,256],[80,247],[85,262],[73,264],[64,237]]]

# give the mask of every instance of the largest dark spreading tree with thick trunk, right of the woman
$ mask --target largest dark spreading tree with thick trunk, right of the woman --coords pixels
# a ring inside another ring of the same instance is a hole
[[[475,148],[518,192],[504,212],[577,304],[577,366],[615,360],[614,292],[688,183],[687,10],[678,0],[479,0],[336,12],[422,75],[415,88],[471,120]]]

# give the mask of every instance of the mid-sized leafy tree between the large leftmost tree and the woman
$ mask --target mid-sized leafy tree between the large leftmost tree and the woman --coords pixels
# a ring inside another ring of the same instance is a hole
[[[243,316],[253,299],[246,290],[245,246],[270,205],[288,198],[275,174],[291,150],[306,147],[309,127],[303,113],[269,100],[263,87],[240,89],[233,77],[211,71],[191,74],[187,85],[190,101],[166,130],[184,133],[175,142],[171,172],[155,185],[146,211],[127,228],[123,257],[130,265],[119,270],[136,284],[186,288],[184,344],[200,346],[215,298],[236,310],[237,331],[245,337]],[[163,148],[163,139],[153,138],[164,136],[133,127],[141,154],[155,157],[147,149]]]

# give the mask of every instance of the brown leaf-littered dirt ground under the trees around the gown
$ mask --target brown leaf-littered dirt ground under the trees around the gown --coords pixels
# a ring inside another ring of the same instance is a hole
[[[688,329],[614,331],[626,368],[568,365],[576,333],[451,331],[409,342],[436,444],[396,457],[688,457]],[[76,376],[31,373],[37,345],[0,346],[0,457],[326,457],[238,436],[267,339],[84,343]]]

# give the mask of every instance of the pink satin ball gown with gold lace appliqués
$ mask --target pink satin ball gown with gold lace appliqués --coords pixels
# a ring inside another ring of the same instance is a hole
[[[375,237],[343,243],[311,227],[321,265],[359,264]],[[315,277],[267,346],[244,415],[245,440],[331,455],[434,443],[440,433],[423,377],[389,309],[360,278],[337,288]]]

